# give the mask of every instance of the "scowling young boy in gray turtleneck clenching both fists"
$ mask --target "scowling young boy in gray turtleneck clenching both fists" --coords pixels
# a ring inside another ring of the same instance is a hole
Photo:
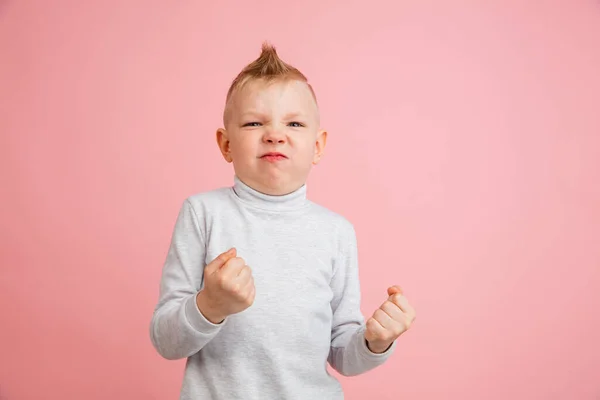
[[[343,399],[327,363],[369,371],[414,320],[393,286],[364,322],[353,226],[306,197],[326,137],[307,79],[263,45],[217,131],[234,184],[186,199],[163,267],[150,336],[187,358],[181,399]]]

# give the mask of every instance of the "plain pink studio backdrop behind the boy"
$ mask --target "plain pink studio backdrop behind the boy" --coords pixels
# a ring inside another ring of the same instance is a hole
[[[317,90],[365,314],[418,311],[346,397],[600,398],[600,3],[566,0],[0,1],[0,398],[178,397],[160,270],[265,39]]]

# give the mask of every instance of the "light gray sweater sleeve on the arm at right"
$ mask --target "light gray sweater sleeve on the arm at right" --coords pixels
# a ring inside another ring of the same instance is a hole
[[[365,320],[360,310],[356,233],[349,222],[346,221],[339,238],[331,280],[333,324],[328,361],[340,374],[354,376],[383,364],[394,351],[395,342],[381,354],[373,353],[367,347]]]

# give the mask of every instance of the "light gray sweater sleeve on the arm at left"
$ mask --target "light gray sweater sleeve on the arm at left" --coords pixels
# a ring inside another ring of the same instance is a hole
[[[179,211],[162,269],[158,304],[150,323],[150,339],[166,359],[187,358],[200,351],[226,321],[213,324],[198,310],[205,267],[205,240],[189,200]]]

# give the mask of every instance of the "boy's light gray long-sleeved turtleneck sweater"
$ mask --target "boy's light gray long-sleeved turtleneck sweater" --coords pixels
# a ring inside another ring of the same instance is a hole
[[[252,268],[250,308],[213,324],[196,306],[203,269],[231,247]],[[187,358],[180,399],[343,399],[342,375],[381,365],[360,311],[356,236],[342,216],[306,198],[233,187],[183,204],[163,267],[150,337],[170,360]]]

